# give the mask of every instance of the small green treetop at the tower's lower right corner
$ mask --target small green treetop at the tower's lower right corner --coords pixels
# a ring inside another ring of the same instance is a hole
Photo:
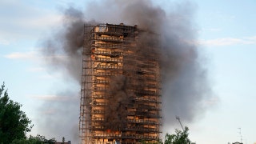
[[[165,144],[195,144],[188,138],[189,128],[185,127],[185,130],[175,130],[176,134],[166,134]]]

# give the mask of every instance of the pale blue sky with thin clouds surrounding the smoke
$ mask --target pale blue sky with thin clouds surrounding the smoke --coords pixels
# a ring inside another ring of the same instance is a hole
[[[256,142],[256,1],[190,2],[198,47],[205,61],[202,63],[216,97],[211,101],[214,104],[207,103],[212,106],[205,114],[183,125],[189,126],[193,142],[239,142],[241,128],[243,142],[252,144]],[[154,2],[166,12],[179,3]],[[78,136],[75,123],[78,124],[80,87],[65,75],[65,70],[47,66],[40,42],[62,27],[62,13],[68,6],[80,10],[93,7],[86,0],[0,1],[0,82],[6,82],[10,98],[20,102],[32,119],[31,134],[58,141],[63,136],[66,140]],[[64,114],[66,117],[60,118]],[[172,133],[175,128],[180,129],[178,122],[167,131]]]

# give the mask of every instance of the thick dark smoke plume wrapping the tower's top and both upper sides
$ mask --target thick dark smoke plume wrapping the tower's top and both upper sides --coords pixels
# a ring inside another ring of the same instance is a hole
[[[67,77],[72,76],[80,83],[84,24],[123,22],[129,26],[138,25],[138,29],[146,31],[139,35],[138,46],[142,47],[138,49],[141,50],[139,53],[147,54],[150,50],[150,55],[154,53],[155,57],[160,58],[164,124],[172,125],[175,116],[193,122],[194,118],[205,111],[205,103],[211,96],[206,70],[199,61],[202,57],[194,44],[196,31],[193,8],[191,3],[185,2],[171,6],[170,11],[166,12],[146,0],[93,2],[86,7],[86,11],[70,7],[64,13],[62,28],[53,38],[44,41],[44,54],[51,67],[63,71]],[[143,49],[145,47],[147,50]],[[112,107],[112,111],[118,105],[130,101],[126,89],[123,89],[126,81],[126,78],[117,78],[110,86],[115,90],[110,93],[123,95],[121,99],[117,98],[118,95],[110,99],[116,101],[117,105]],[[115,89],[114,86],[118,87]],[[74,112],[78,113],[78,110]],[[78,118],[74,118],[73,123],[78,123]]]

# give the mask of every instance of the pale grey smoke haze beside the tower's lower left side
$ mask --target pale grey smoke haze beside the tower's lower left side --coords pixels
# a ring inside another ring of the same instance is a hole
[[[78,110],[79,92],[74,90],[63,90],[62,92],[45,99],[39,107],[38,125],[35,126],[38,134],[46,138],[56,138],[62,142],[71,140],[78,143]]]

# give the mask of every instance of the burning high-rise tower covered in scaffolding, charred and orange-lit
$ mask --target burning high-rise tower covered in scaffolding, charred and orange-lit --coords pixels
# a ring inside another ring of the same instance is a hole
[[[158,57],[140,44],[140,34],[145,31],[122,23],[86,25],[84,30],[79,122],[82,143],[161,140]]]

